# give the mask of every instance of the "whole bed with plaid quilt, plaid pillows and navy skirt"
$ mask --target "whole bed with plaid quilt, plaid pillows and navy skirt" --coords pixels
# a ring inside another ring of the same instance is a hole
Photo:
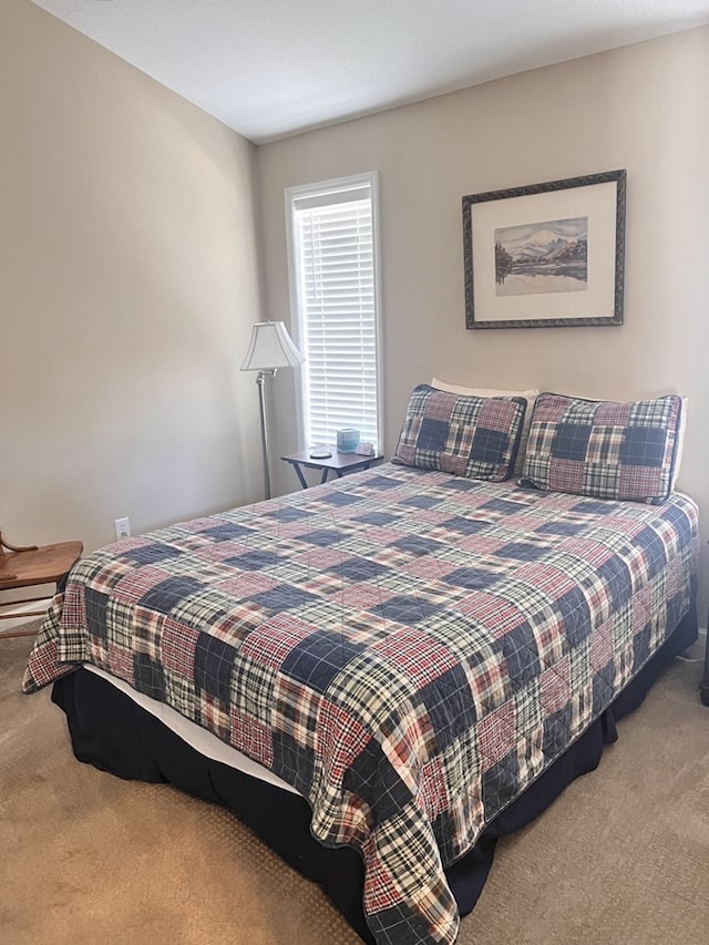
[[[54,684],[80,758],[227,803],[364,939],[454,942],[495,838],[696,637],[679,398],[589,403],[537,399],[516,480],[524,399],[420,386],[395,462],[99,549],[25,691]],[[610,485],[604,436],[635,470]]]

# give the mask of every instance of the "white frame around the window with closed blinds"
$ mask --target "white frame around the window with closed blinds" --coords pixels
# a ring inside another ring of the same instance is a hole
[[[377,397],[377,443],[379,453],[383,451],[383,399],[382,399],[382,330],[381,330],[381,258],[379,238],[379,172],[371,171],[362,174],[352,174],[346,177],[335,177],[328,181],[318,181],[314,184],[302,184],[297,187],[286,187],[286,249],[288,258],[288,294],[290,304],[290,327],[296,339],[296,345],[305,355],[305,325],[301,316],[300,305],[300,280],[298,260],[296,259],[296,207],[299,201],[308,198],[327,197],[332,194],[341,194],[348,189],[368,187],[371,201],[372,214],[372,266],[373,266],[373,304],[374,304],[374,370],[377,372],[376,397]],[[338,203],[338,201],[332,201]],[[327,202],[323,202],[327,205]],[[296,371],[296,429],[298,434],[298,449],[306,450],[316,445],[306,438],[305,429],[305,399],[306,381],[305,372]],[[335,443],[329,444],[335,446]]]

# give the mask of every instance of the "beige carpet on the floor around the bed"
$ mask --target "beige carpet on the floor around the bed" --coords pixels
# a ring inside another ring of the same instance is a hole
[[[0,640],[3,945],[358,945],[225,811],[78,762]],[[709,943],[709,709],[675,662],[598,771],[499,845],[459,945]]]

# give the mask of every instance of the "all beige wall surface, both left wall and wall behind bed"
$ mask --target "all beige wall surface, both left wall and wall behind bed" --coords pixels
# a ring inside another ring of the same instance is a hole
[[[372,170],[388,453],[432,374],[679,390],[680,485],[706,517],[707,88],[702,29],[255,148],[29,0],[3,0],[0,525],[92,548],[120,516],[136,533],[259,497],[254,378],[238,366],[253,321],[288,317],[284,188]],[[461,196],[616,167],[625,325],[466,331]],[[297,445],[292,390],[279,372],[275,455]],[[278,489],[295,487],[274,465]]]

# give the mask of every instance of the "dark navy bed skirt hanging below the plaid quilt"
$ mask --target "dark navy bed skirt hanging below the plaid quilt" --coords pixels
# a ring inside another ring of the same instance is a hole
[[[597,768],[616,722],[637,708],[662,668],[697,638],[692,607],[671,637],[590,728],[445,871],[461,915],[472,911],[487,879],[497,838],[530,823],[575,778]],[[79,669],[54,682],[52,700],[66,713],[74,754],[120,778],[169,783],[222,804],[295,870],[319,883],[361,938],[373,945],[362,910],[363,866],[350,848],[322,846],[310,833],[310,808],[297,794],[199,754],[104,679]]]

